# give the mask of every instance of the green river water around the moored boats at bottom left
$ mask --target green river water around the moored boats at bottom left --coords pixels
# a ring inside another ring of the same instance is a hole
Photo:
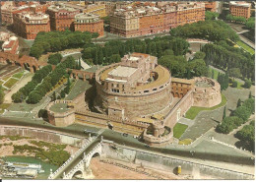
[[[35,158],[32,156],[5,156],[2,157],[5,161],[16,161],[16,162],[26,162],[26,163],[35,163],[35,164],[41,164],[42,170],[44,170],[43,173],[37,174],[37,177],[35,179],[47,179],[50,174],[50,169],[52,169],[52,172],[57,170],[58,166],[44,162],[40,160],[39,158]],[[5,179],[5,178],[3,178]],[[10,178],[8,178],[10,179]],[[18,179],[18,178],[14,178]]]

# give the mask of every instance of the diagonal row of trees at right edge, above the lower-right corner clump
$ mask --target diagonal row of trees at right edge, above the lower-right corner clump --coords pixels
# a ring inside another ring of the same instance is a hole
[[[220,133],[228,134],[233,129],[238,128],[244,124],[254,112],[255,109],[255,99],[248,98],[241,105],[241,100],[237,101],[237,108],[232,111],[230,116],[224,117],[224,120],[221,124],[217,126],[217,131]],[[225,113],[225,108],[224,108]],[[225,115],[225,114],[224,114]]]

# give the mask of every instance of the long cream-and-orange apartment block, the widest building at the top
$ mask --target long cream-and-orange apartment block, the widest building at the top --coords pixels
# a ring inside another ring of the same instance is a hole
[[[145,4],[116,9],[110,15],[110,32],[135,37],[205,20],[205,4],[201,2]]]

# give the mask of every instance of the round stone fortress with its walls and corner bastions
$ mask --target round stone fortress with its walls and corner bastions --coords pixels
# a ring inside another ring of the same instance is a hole
[[[171,78],[149,54],[125,55],[120,63],[96,71],[94,106],[81,108],[85,92],[74,100],[56,100],[47,106],[50,123],[67,126],[83,122],[96,127],[142,136],[153,146],[169,144],[173,127],[191,106],[212,107],[221,103],[221,87],[209,78]],[[52,111],[54,104],[66,103],[65,112]],[[87,105],[87,103],[83,103]]]

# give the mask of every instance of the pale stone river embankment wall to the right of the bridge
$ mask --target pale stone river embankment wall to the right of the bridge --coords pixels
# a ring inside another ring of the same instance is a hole
[[[204,179],[206,176],[215,179],[254,179],[254,175],[252,174],[193,162],[189,157],[187,160],[178,159],[175,156],[166,156],[153,152],[142,152],[126,147],[113,146],[113,144],[104,143],[102,146],[102,156],[134,162],[145,167],[158,168],[159,170],[171,173],[175,173],[177,166],[180,165],[182,171],[181,174],[193,175],[195,179]],[[222,156],[220,157],[222,158]],[[235,162],[235,160],[233,161]]]

